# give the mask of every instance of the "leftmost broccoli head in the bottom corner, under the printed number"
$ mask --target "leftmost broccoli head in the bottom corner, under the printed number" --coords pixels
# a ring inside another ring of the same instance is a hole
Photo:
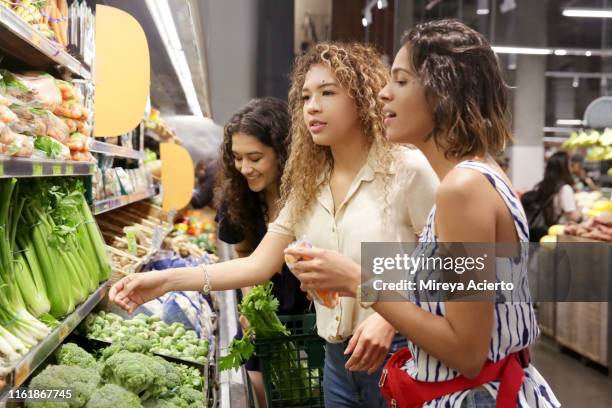
[[[70,408],[85,406],[90,396],[100,383],[100,375],[93,368],[82,368],[68,365],[51,365],[32,378],[28,389],[48,390],[70,388],[74,390],[73,400],[65,405]],[[53,407],[63,407],[63,403],[49,403]],[[37,402],[26,401],[27,408],[40,408]]]

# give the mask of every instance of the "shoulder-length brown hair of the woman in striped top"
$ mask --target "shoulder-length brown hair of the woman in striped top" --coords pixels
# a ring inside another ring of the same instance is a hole
[[[499,154],[512,141],[508,86],[487,39],[457,20],[417,25],[402,43],[434,116],[430,137],[447,157]]]

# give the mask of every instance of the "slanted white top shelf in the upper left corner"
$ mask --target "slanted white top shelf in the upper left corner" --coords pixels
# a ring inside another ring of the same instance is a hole
[[[40,34],[5,6],[0,6],[0,49],[37,69],[59,65],[78,77],[91,79],[89,70],[61,45]]]

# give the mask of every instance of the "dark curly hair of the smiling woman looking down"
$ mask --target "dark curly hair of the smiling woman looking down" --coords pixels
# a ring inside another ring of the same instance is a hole
[[[215,180],[215,202],[217,208],[221,208],[221,204],[224,206],[228,221],[240,227],[245,239],[252,245],[256,244],[253,242],[253,219],[262,211],[264,217],[266,216],[266,204],[258,193],[249,189],[244,176],[236,170],[232,136],[244,133],[272,147],[276,153],[279,174],[282,175],[287,161],[290,122],[287,103],[277,98],[265,97],[250,100],[231,117],[223,129],[219,172]]]

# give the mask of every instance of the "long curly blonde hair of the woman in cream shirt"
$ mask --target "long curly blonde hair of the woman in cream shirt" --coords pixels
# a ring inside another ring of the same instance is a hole
[[[329,182],[333,167],[329,146],[315,144],[304,121],[302,88],[309,69],[317,64],[328,67],[355,101],[361,129],[370,148],[375,149],[376,161],[385,174],[386,190],[390,184],[389,170],[395,150],[385,138],[383,104],[378,100],[378,93],[390,79],[389,69],[373,47],[358,43],[325,42],[298,57],[289,90],[291,147],[280,189],[281,208],[289,200],[292,202],[290,218],[294,225],[310,208],[321,186]]]

